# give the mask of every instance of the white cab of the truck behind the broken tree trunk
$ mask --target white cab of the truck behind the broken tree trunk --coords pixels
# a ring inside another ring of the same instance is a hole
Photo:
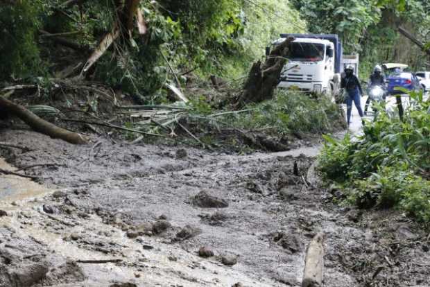
[[[277,42],[282,42],[281,38]],[[278,87],[296,87],[304,92],[331,92],[334,89],[335,47],[329,40],[297,37],[289,46],[289,61]]]

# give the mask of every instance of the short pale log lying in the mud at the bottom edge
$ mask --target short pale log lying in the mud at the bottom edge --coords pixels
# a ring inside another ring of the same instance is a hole
[[[307,247],[302,287],[322,287],[325,234],[318,233]]]

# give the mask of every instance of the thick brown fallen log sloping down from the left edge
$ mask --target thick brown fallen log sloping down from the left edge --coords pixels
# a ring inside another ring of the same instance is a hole
[[[22,119],[22,121],[27,125],[30,125],[33,130],[49,135],[53,139],[62,139],[74,144],[87,143],[87,139],[85,139],[81,134],[78,134],[77,132],[69,132],[64,128],[59,128],[53,123],[49,123],[48,121],[41,119],[39,116],[36,116],[33,112],[30,112],[22,105],[12,103],[2,96],[0,96],[0,108],[3,108],[10,114],[14,114],[19,119]]]

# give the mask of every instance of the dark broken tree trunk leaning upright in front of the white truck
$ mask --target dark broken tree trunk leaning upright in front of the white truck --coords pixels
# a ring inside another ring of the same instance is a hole
[[[289,37],[276,46],[264,64],[261,65],[260,61],[252,64],[243,92],[236,100],[236,108],[241,108],[247,103],[259,103],[273,97],[273,91],[279,83],[282,68],[286,64],[286,56],[289,52],[288,45],[293,40],[294,37]]]

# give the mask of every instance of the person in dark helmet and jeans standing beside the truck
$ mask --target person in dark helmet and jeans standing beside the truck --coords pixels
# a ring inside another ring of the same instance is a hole
[[[348,65],[345,69],[345,76],[341,80],[341,88],[345,89],[347,96],[346,100],[346,114],[347,124],[350,126],[352,102],[354,102],[356,109],[359,111],[361,123],[363,121],[363,110],[361,110],[360,96],[363,94],[359,78],[354,75],[354,67]]]

